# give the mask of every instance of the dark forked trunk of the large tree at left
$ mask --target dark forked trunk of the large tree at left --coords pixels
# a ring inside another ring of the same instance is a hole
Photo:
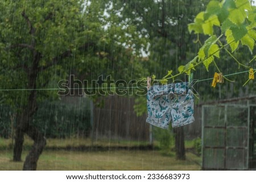
[[[36,170],[36,163],[38,162],[40,154],[42,154],[43,148],[46,145],[46,139],[31,124],[32,116],[36,112],[36,78],[39,73],[39,60],[41,58],[40,53],[34,52],[34,59],[30,71],[28,72],[28,88],[32,89],[28,95],[28,103],[26,107],[22,109],[18,118],[18,125],[16,128],[15,147],[14,147],[14,160],[21,159],[23,135],[26,133],[30,138],[34,140],[34,145],[30,153],[26,156],[26,160],[23,165],[23,170]]]

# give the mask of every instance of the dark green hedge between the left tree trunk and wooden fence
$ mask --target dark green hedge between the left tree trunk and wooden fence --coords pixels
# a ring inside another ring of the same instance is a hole
[[[34,124],[48,138],[88,137],[91,128],[90,108],[81,105],[74,107],[59,101],[45,101],[35,113]]]

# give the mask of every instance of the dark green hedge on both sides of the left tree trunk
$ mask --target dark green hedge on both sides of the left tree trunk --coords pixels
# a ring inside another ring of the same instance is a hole
[[[75,107],[61,101],[44,101],[39,104],[33,124],[38,126],[47,138],[89,137],[92,126],[88,100],[81,100],[80,104],[81,107]],[[15,112],[8,105],[1,105],[0,109],[0,136],[10,138],[11,116]],[[15,121],[13,122],[16,125]]]

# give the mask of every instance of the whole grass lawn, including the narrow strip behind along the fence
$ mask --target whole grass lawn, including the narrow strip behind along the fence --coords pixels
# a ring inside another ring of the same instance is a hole
[[[90,146],[90,139],[47,139],[48,147]],[[26,158],[32,141],[24,142],[22,160]],[[146,142],[97,141],[98,146],[138,146]],[[191,147],[186,143],[186,147]],[[23,162],[12,162],[11,140],[0,138],[0,170],[22,170]],[[186,160],[176,160],[175,153],[163,155],[160,150],[110,150],[110,151],[72,151],[46,150],[40,155],[37,170],[200,170],[201,158],[186,153]]]

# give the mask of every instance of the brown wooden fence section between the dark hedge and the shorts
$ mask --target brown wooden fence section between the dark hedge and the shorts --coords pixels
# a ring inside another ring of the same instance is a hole
[[[134,112],[134,98],[131,96],[108,96],[104,107],[93,109],[94,139],[127,139],[148,141],[149,124],[146,114],[137,116]]]

